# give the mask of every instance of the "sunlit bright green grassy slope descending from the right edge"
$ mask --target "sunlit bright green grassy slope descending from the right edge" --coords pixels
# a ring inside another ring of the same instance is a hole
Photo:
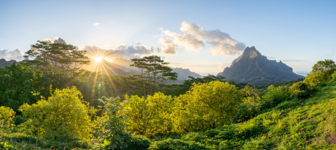
[[[209,149],[336,149],[335,90],[323,87],[305,100],[284,101],[246,122],[188,133],[178,140]],[[167,140],[157,141],[152,149],[163,142]]]

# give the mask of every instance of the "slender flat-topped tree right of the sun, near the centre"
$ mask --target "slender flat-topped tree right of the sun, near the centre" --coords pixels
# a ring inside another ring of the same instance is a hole
[[[143,58],[131,59],[133,64],[140,69],[140,76],[143,84],[144,97],[152,95],[153,89],[155,92],[161,89],[161,86],[157,86],[165,83],[167,80],[177,80],[177,73],[171,72],[173,69],[167,66],[169,62],[161,60],[160,56],[144,56]],[[146,84],[149,83],[149,91],[146,92]]]

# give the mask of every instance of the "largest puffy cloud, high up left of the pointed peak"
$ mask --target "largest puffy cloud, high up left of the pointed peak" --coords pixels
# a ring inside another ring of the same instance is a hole
[[[183,35],[170,30],[160,29],[164,35],[172,39],[169,45],[172,45],[172,43],[176,45],[174,47],[170,46],[169,50],[167,50],[169,52],[175,51],[176,53],[177,45],[184,46],[188,51],[198,51],[205,46],[204,42],[211,45],[211,53],[213,55],[233,55],[239,51],[243,51],[246,47],[243,42],[233,39],[228,33],[222,32],[220,29],[205,30],[194,22],[182,22],[180,29]],[[160,38],[159,41],[164,45],[161,48],[167,49],[169,47],[167,46],[168,43],[164,42],[168,41],[168,39],[167,37]]]

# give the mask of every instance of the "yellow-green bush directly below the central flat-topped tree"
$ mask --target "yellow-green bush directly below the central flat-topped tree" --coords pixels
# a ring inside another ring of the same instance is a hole
[[[131,131],[148,137],[171,133],[170,112],[173,105],[171,96],[157,92],[153,96],[148,95],[146,99],[137,95],[125,95],[125,98],[123,106],[129,115],[128,123]]]

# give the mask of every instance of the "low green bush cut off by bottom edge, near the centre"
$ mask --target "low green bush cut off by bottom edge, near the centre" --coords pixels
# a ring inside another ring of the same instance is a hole
[[[201,149],[209,149],[203,144],[195,141],[183,141],[180,139],[165,139],[160,141],[155,141],[150,147],[149,150],[158,150],[158,149],[181,149],[181,150],[201,150]]]

